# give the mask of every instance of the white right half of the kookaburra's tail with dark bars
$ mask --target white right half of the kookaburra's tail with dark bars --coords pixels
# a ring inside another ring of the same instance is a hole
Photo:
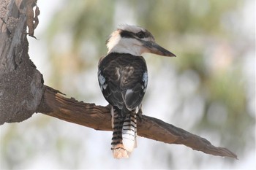
[[[124,148],[128,152],[132,152],[137,147],[137,120],[136,114],[133,111],[130,111],[125,117],[122,128],[122,139]]]

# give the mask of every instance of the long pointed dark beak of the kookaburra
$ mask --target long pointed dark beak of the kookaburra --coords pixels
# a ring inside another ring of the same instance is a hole
[[[154,53],[157,55],[162,55],[167,57],[176,57],[175,54],[170,53],[170,51],[166,50],[160,45],[157,45],[156,42],[142,41],[142,43],[143,43],[143,46],[146,47],[146,50],[144,53]]]

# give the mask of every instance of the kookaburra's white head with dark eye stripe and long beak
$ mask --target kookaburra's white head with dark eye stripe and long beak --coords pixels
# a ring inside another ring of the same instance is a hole
[[[157,55],[176,57],[170,51],[157,45],[154,36],[139,26],[121,25],[114,31],[106,42],[108,53],[129,53],[141,55],[154,53]]]

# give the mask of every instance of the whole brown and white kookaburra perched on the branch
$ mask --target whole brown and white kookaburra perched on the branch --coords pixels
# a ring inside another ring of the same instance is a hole
[[[148,84],[143,53],[176,56],[157,45],[154,36],[138,26],[121,25],[106,42],[108,55],[99,60],[98,80],[111,105],[114,158],[128,158],[137,147],[137,116]]]

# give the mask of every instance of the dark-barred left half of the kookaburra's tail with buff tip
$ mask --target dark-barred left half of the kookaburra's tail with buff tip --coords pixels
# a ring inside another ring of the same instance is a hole
[[[111,150],[114,158],[129,158],[129,152],[124,147],[122,141],[122,127],[124,118],[121,116],[121,110],[117,107],[111,108],[113,137]]]

